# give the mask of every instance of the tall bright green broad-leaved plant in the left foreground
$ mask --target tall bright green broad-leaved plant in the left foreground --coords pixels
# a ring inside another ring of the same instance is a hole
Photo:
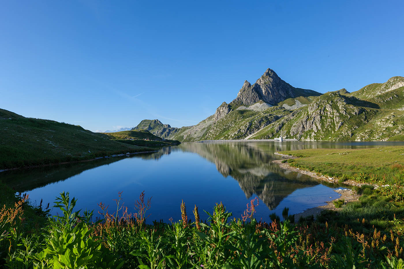
[[[35,268],[120,268],[123,262],[111,256],[101,244],[101,240],[91,237],[90,223],[93,212],[74,211],[77,200],[69,198],[69,193],[60,193],[55,208],[63,215],[49,219],[49,234],[46,248],[34,255]]]

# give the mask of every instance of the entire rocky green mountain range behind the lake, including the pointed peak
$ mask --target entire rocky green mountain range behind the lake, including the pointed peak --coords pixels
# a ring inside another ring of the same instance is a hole
[[[404,140],[404,78],[321,94],[295,88],[272,69],[254,84],[245,81],[237,97],[194,126],[173,128],[142,120],[132,130],[179,141],[272,139],[368,141]]]

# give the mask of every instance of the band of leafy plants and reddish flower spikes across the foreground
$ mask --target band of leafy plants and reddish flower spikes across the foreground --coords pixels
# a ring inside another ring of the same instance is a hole
[[[369,204],[376,191],[358,191],[364,195],[355,210],[366,212],[380,202]],[[12,201],[13,195],[8,189],[0,199]],[[47,216],[48,207],[30,206],[22,197],[1,209],[0,255],[10,268],[396,268],[403,266],[398,229],[403,204],[381,199],[389,214],[396,214],[383,229],[369,221],[372,213],[359,219],[348,206],[339,217],[325,212],[317,221],[302,218],[295,225],[287,208],[282,222],[276,215],[271,215],[272,223],[257,222],[258,200],[238,219],[216,204],[207,223],[200,222],[197,206],[191,220],[182,203],[181,220],[147,225],[151,199],[145,200],[144,193],[133,215],[127,213],[122,193],[112,214],[100,203],[102,218],[95,222],[92,212],[75,211],[76,200],[68,193],[55,201],[63,214],[54,217]]]

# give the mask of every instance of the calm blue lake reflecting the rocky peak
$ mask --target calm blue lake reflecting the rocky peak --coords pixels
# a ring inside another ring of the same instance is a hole
[[[272,160],[280,159],[274,152],[305,148],[364,148],[404,145],[404,142],[212,142],[182,143],[164,147],[156,153],[138,154],[128,158],[108,158],[48,168],[1,172],[0,180],[17,192],[28,193],[36,204],[43,200],[52,205],[62,191],[78,199],[76,210],[94,210],[97,204],[109,204],[116,211],[118,192],[129,212],[139,194],[151,198],[148,223],[171,217],[181,219],[180,204],[187,206],[188,218],[194,219],[194,204],[202,219],[203,210],[212,212],[215,203],[223,202],[236,218],[246,204],[259,198],[255,217],[269,221],[269,214],[282,216],[326,204],[339,197],[339,189],[307,175],[280,169]],[[57,214],[53,208],[51,211]]]

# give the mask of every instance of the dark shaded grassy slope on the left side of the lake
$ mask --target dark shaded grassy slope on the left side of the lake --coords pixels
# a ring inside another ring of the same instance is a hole
[[[0,138],[0,169],[152,150],[112,141],[80,126],[25,118],[4,109],[0,109]]]

